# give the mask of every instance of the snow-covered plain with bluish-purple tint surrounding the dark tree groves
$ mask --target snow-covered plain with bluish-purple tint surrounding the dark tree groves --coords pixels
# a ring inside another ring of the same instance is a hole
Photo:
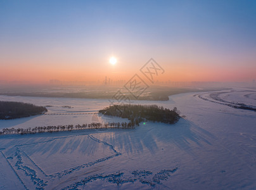
[[[175,125],[0,136],[0,189],[256,189],[256,111],[226,105],[256,107],[256,92],[223,92],[220,101],[212,92],[134,101],[177,106],[186,117]],[[109,105],[100,99],[0,100],[49,105],[52,114],[0,120],[0,129],[89,123],[87,113]]]

